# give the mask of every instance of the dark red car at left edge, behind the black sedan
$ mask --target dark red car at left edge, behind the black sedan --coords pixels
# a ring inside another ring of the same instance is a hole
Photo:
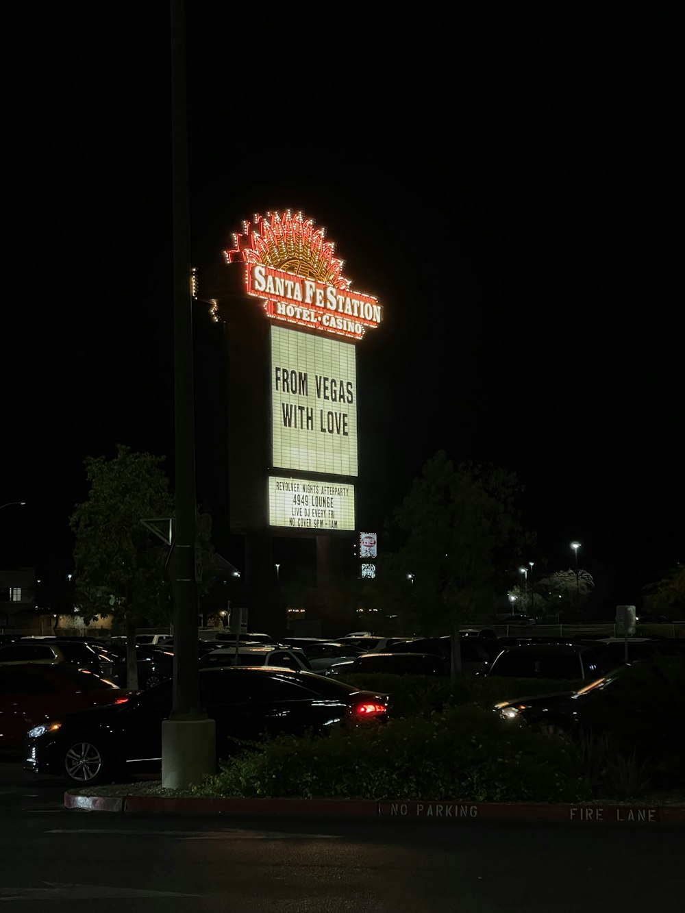
[[[0,666],[0,750],[23,749],[28,729],[56,715],[123,704],[132,694],[107,678],[66,663]]]

